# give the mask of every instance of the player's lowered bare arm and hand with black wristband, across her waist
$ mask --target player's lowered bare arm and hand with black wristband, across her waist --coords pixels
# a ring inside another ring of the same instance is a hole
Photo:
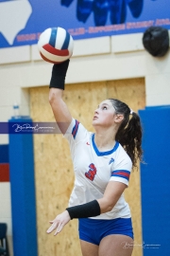
[[[112,210],[126,188],[127,185],[122,182],[110,181],[102,198],[64,210],[50,221],[51,227],[46,232],[51,233],[56,229],[55,235],[57,235],[73,218],[93,217]]]

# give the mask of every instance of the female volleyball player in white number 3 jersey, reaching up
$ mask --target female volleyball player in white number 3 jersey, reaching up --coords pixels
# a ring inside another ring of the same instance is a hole
[[[68,64],[69,60],[54,64],[49,101],[69,141],[76,181],[69,207],[50,222],[47,233],[55,230],[57,235],[77,218],[83,256],[130,256],[133,229],[123,192],[132,166],[142,155],[140,119],[126,103],[110,99],[97,106],[95,133],[88,132],[62,100]]]

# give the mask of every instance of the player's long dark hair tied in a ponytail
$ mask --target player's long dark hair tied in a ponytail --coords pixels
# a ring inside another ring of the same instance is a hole
[[[129,155],[133,167],[137,167],[138,159],[142,161],[142,126],[137,113],[132,112],[126,103],[109,99],[116,114],[123,114],[124,119],[117,131],[115,139],[124,147]],[[132,113],[131,113],[132,112]],[[130,115],[131,114],[131,115]],[[131,118],[129,118],[131,116]]]

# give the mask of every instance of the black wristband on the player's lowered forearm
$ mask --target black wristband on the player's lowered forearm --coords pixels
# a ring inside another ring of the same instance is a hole
[[[87,204],[69,207],[68,210],[71,219],[88,218],[100,215],[100,206],[97,200],[93,200]]]

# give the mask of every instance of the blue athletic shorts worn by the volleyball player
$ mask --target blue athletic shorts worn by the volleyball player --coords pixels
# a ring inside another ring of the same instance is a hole
[[[110,234],[123,234],[133,239],[131,218],[100,220],[78,219],[79,239],[99,246],[100,241]]]

